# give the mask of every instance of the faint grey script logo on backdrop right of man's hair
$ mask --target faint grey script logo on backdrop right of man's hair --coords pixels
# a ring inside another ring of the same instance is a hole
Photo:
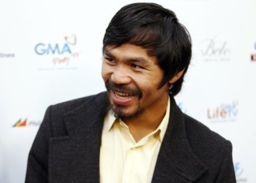
[[[230,48],[228,41],[217,38],[201,41],[201,56],[204,61],[229,61]]]

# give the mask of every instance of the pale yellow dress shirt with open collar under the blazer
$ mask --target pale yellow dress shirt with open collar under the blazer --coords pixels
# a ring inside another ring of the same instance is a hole
[[[170,98],[166,115],[158,128],[135,142],[129,127],[109,112],[104,119],[100,149],[101,183],[149,183],[155,169],[160,145],[170,116]]]

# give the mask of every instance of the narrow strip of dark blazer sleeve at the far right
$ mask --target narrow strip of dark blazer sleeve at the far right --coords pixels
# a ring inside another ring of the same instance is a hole
[[[222,159],[216,183],[236,183],[232,158],[232,144],[228,141],[226,153]]]

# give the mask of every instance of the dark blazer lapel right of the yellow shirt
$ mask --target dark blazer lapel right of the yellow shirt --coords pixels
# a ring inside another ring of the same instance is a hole
[[[192,182],[206,169],[189,147],[183,113],[171,97],[170,120],[160,147],[152,182]]]

